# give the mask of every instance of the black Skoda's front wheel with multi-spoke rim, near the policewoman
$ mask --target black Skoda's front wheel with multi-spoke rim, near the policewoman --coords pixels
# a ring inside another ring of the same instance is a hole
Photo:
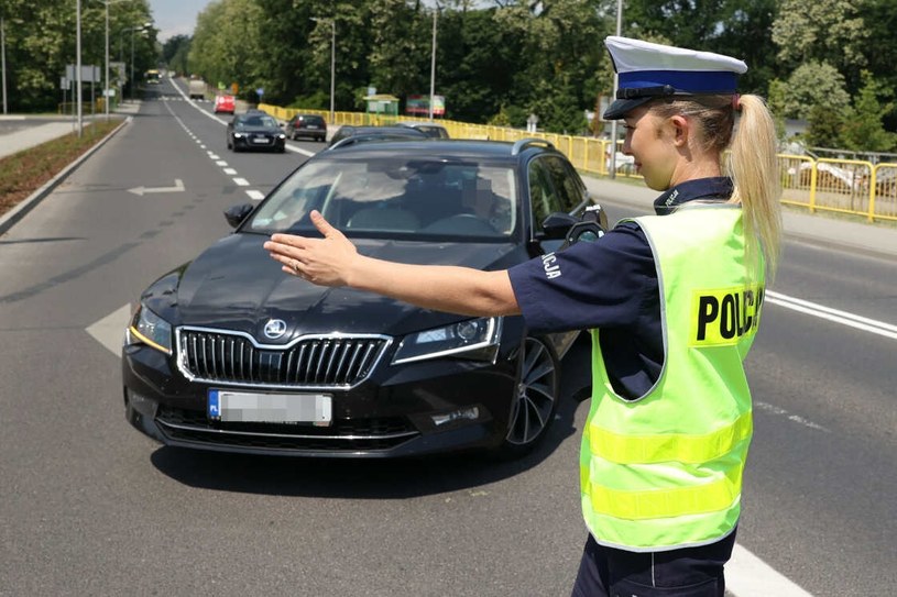
[[[555,420],[560,400],[560,360],[543,339],[527,336],[507,435],[493,451],[497,460],[519,458],[533,451]]]

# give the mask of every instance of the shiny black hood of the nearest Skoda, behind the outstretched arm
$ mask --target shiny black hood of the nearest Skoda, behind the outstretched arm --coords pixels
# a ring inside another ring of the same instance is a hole
[[[237,330],[267,344],[304,334],[402,335],[464,319],[350,288],[324,288],[285,274],[262,247],[265,235],[234,233],[193,262],[163,276],[143,300],[174,325]],[[387,261],[462,265],[477,269],[516,262],[513,244],[420,243],[359,240],[360,253]],[[271,319],[286,322],[277,341],[263,334]]]

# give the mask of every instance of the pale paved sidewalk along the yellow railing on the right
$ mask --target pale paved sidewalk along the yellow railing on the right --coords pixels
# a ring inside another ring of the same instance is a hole
[[[659,195],[645,186],[583,176],[592,197],[601,203],[635,204],[654,211],[654,199]],[[897,259],[897,228],[850,222],[827,215],[784,210],[781,214],[785,236],[791,240],[841,246],[869,255]]]

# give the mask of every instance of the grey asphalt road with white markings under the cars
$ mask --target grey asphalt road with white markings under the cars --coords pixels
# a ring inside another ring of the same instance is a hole
[[[507,464],[218,455],[125,423],[130,306],[305,159],[231,154],[227,117],[158,92],[0,237],[0,595],[569,595],[588,403]],[[783,264],[781,296],[897,323],[897,263],[788,244]],[[739,543],[811,595],[897,587],[895,356],[890,338],[765,308]]]

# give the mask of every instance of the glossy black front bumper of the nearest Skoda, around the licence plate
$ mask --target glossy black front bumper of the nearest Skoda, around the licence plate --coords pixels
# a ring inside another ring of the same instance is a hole
[[[211,420],[206,416],[208,389],[226,385],[189,382],[162,353],[125,346],[125,417],[166,445],[219,452],[401,457],[495,447],[507,433],[516,391],[513,352],[500,355],[495,365],[384,363],[350,390],[321,390],[332,395],[332,422],[314,427]]]

